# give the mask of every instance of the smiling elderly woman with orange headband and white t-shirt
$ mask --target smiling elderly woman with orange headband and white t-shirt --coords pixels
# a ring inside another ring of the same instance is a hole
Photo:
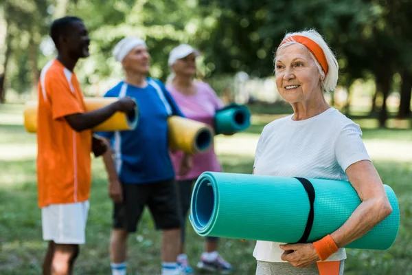
[[[264,127],[253,173],[350,181],[362,203],[341,228],[314,243],[258,241],[253,252],[257,275],[343,274],[343,247],[392,211],[358,124],[323,97],[324,91],[336,87],[338,69],[334,54],[316,31],[286,34],[277,48],[275,76],[293,115]]]

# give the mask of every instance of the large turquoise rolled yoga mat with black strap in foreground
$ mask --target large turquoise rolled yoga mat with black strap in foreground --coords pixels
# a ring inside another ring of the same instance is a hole
[[[306,242],[334,232],[361,203],[347,181],[308,179],[314,188],[314,219]],[[346,248],[386,250],[396,239],[399,206],[385,185],[393,212]],[[296,243],[308,222],[308,192],[294,177],[205,172],[196,181],[190,222],[201,236]]]

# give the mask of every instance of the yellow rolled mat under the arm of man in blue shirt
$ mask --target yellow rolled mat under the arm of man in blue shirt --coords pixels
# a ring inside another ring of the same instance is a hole
[[[168,118],[169,148],[196,154],[209,150],[213,144],[213,129],[207,124],[172,115]]]

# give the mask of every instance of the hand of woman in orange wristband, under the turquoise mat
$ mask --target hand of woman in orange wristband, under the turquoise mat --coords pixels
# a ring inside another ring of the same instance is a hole
[[[312,243],[295,243],[279,245],[284,250],[280,257],[282,261],[288,261],[294,267],[304,268],[319,261],[319,256]]]

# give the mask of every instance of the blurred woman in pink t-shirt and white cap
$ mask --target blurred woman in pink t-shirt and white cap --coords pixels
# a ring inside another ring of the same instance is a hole
[[[172,75],[168,80],[167,88],[176,104],[178,104],[179,109],[187,118],[214,126],[214,115],[216,110],[223,107],[223,103],[207,83],[194,81],[194,75],[196,74],[195,60],[199,54],[198,50],[186,44],[179,45],[170,52],[168,63],[172,69]],[[194,155],[190,168],[181,165],[184,163],[182,162],[184,157],[182,152],[172,153],[171,157],[176,172],[176,184],[181,200],[183,220],[181,252],[177,260],[186,267],[187,274],[191,274],[192,268],[188,264],[187,256],[184,254],[184,243],[185,221],[190,207],[192,186],[201,173],[205,171],[220,172],[221,167],[213,147],[205,153]],[[187,169],[190,170],[187,172]],[[219,256],[216,251],[217,248],[218,238],[207,237],[205,252],[203,252],[197,267],[201,270],[220,271],[229,274],[232,267]]]

